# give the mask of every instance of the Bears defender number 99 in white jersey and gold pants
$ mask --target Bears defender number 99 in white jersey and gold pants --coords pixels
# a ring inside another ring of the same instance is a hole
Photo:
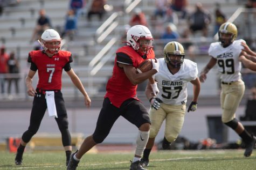
[[[244,40],[236,40],[237,27],[232,23],[224,23],[219,28],[219,41],[213,42],[209,48],[211,60],[200,73],[200,82],[206,80],[206,74],[217,63],[221,74],[222,91],[220,104],[223,110],[222,122],[232,128],[246,144],[245,157],[250,157],[256,143],[256,137],[249,134],[236,119],[237,107],[244,95],[245,85],[241,80],[241,62],[239,56],[243,53]]]

